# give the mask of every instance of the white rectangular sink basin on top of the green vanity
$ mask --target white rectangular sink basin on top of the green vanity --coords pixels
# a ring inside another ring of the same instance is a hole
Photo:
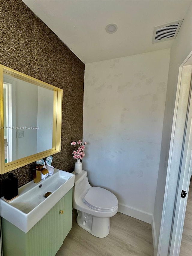
[[[74,185],[75,176],[55,169],[39,183],[33,180],[19,188],[19,196],[7,202],[1,197],[1,217],[27,233]],[[47,192],[51,192],[45,197]]]

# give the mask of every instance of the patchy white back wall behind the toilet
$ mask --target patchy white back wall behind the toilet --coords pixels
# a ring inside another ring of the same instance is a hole
[[[151,223],[170,50],[85,65],[83,169],[119,211]]]

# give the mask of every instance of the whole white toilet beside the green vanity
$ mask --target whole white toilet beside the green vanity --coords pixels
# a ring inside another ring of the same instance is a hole
[[[106,237],[110,231],[110,217],[118,211],[117,197],[100,187],[91,187],[87,172],[75,173],[73,208],[77,210],[77,224],[93,236]]]

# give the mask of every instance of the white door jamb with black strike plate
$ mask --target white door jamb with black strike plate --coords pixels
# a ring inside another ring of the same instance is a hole
[[[191,55],[192,56],[192,55]],[[192,65],[190,65],[192,66]],[[190,185],[192,169],[192,75],[189,88],[189,98],[186,113],[185,130],[183,137],[182,158],[179,168],[177,194],[175,200],[174,219],[172,225],[172,234],[170,239],[170,255],[179,255],[184,218],[187,206],[187,198]],[[181,191],[186,191],[185,198],[181,197]]]

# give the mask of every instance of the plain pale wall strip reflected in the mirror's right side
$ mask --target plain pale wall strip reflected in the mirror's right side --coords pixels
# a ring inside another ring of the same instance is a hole
[[[53,91],[38,86],[37,153],[52,149]]]

